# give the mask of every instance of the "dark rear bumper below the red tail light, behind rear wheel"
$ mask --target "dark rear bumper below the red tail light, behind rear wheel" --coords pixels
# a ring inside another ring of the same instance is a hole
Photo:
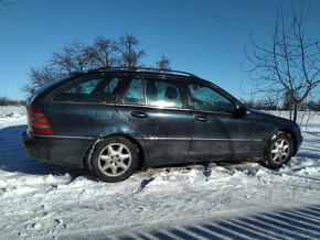
[[[95,142],[92,138],[21,134],[21,143],[26,155],[34,160],[84,166],[87,150]]]

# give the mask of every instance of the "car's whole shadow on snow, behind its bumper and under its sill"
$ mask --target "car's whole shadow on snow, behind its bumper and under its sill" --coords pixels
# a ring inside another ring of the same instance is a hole
[[[89,179],[95,179],[88,171],[86,170],[76,170],[67,166],[61,166],[52,163],[46,163],[42,161],[32,160],[26,156],[23,146],[20,142],[21,132],[26,129],[25,124],[22,126],[11,126],[8,128],[0,129],[0,170],[10,173],[24,173],[30,175],[65,175],[71,176],[71,181],[75,179],[77,176],[85,176]],[[237,165],[242,163],[241,161],[224,162],[221,163],[222,166],[228,168],[228,166]],[[198,163],[202,165],[204,174],[207,173],[206,167],[209,163]],[[216,163],[220,165],[220,162]],[[152,173],[160,173],[162,171],[172,170],[172,167],[183,167],[184,170],[194,168],[192,163],[188,164],[170,164],[166,166],[152,167]],[[150,172],[145,173],[143,171],[138,171],[136,174],[140,175],[143,179],[141,182],[140,188],[143,189],[150,182],[153,181],[153,177],[150,176]],[[148,176],[147,176],[147,175]],[[96,181],[96,179],[95,179]]]

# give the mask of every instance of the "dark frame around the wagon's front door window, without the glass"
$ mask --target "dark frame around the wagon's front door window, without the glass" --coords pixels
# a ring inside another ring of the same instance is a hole
[[[188,103],[189,103],[190,110],[199,111],[199,112],[220,113],[220,114],[233,114],[233,111],[226,112],[226,111],[214,111],[214,110],[195,109],[194,108],[194,103],[192,101],[192,94],[190,92],[190,89],[189,89],[189,85],[192,85],[192,84],[196,84],[196,85],[199,85],[201,87],[207,87],[211,90],[213,90],[213,91],[217,92],[218,95],[221,95],[222,97],[226,98],[233,105],[234,110],[236,109],[236,106],[238,105],[238,102],[236,100],[230,98],[226,94],[224,94],[221,89],[218,89],[214,85],[211,85],[211,84],[205,83],[205,81],[203,83],[203,81],[198,81],[198,80],[189,80],[189,81],[185,81],[185,89],[186,89]]]

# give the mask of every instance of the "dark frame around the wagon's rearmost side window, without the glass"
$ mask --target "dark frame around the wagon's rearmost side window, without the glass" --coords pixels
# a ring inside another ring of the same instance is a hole
[[[81,83],[84,83],[84,81],[87,81],[87,80],[93,80],[93,79],[107,79],[107,78],[119,78],[119,84],[118,86],[115,88],[114,90],[114,94],[113,94],[113,99],[110,100],[110,102],[107,102],[106,100],[104,101],[76,101],[76,100],[55,100],[55,96],[57,96],[58,94],[63,92],[64,90],[77,85],[77,84],[81,84]],[[72,79],[71,81],[62,85],[61,87],[58,87],[57,89],[54,90],[54,92],[52,92],[47,99],[51,101],[51,102],[58,102],[58,103],[98,103],[98,105],[115,105],[116,103],[116,100],[117,100],[117,97],[120,92],[120,89],[121,89],[121,85],[124,83],[126,83],[126,78],[127,76],[125,75],[120,75],[120,74],[111,74],[111,75],[105,75],[105,74],[99,74],[99,75],[87,75],[87,76],[81,76],[81,77],[77,77],[77,78],[74,78]]]

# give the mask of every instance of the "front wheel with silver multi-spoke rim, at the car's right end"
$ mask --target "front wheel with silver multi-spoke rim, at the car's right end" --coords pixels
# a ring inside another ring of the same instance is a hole
[[[294,153],[294,142],[289,134],[285,132],[277,132],[268,141],[265,149],[263,164],[276,170],[290,161]]]

